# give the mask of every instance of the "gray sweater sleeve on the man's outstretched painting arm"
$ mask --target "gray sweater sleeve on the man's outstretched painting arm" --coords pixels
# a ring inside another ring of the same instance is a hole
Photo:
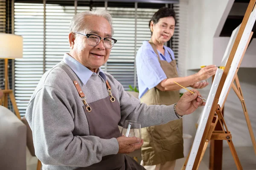
[[[121,108],[120,126],[125,120],[137,121],[141,127],[149,127],[159,124],[166,124],[169,121],[179,119],[174,112],[174,105],[149,105],[140,103],[140,100],[126,92],[118,81],[116,81]]]

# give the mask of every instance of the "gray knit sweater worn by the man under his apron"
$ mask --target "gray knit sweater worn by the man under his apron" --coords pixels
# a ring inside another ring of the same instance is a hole
[[[101,161],[102,156],[117,154],[119,144],[116,138],[102,139],[89,135],[84,104],[71,79],[58,65],[43,75],[26,110],[35,155],[42,161],[43,169],[73,170],[95,164]],[[93,74],[86,84],[82,84],[76,74],[68,69],[79,82],[87,103],[108,96],[106,84],[99,74]],[[142,127],[178,119],[173,105],[141,104],[140,100],[125,92],[112,75],[104,73],[112,94],[120,104],[119,126],[123,126],[127,119],[139,122]]]

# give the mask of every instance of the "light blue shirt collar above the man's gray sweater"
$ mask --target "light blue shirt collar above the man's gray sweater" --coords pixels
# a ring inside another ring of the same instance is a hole
[[[92,72],[90,71],[90,69],[88,69],[83,64],[79,63],[79,61],[77,61],[75,58],[71,57],[67,53],[64,54],[63,61],[68,66],[70,66],[70,68],[76,73],[76,75],[80,78],[83,84],[86,84],[93,74],[99,74],[106,82],[106,75],[104,74],[101,68],[99,68],[97,73]]]

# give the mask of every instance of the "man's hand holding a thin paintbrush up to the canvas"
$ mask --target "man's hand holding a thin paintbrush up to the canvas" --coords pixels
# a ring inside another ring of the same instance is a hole
[[[198,96],[202,97],[198,90],[192,89],[191,92],[185,92],[176,105],[176,111],[179,115],[189,115],[194,112],[198,107],[204,106],[205,102]]]

